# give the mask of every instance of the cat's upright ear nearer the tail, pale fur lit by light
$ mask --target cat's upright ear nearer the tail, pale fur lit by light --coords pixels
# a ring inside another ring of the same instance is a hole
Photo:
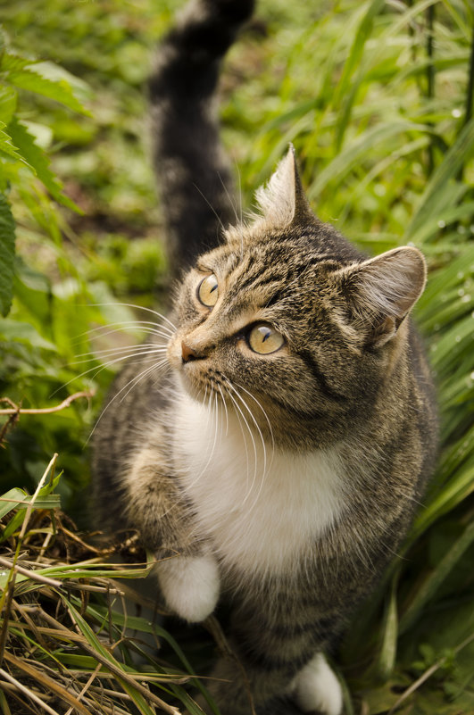
[[[262,210],[262,217],[256,222],[262,220],[269,228],[284,229],[295,222],[314,220],[301,185],[293,145],[268,184],[257,189],[255,196]]]

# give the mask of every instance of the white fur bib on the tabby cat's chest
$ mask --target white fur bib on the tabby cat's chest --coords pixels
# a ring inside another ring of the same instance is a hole
[[[221,561],[278,574],[344,507],[337,450],[285,453],[252,438],[236,416],[184,397],[178,405],[179,474]]]

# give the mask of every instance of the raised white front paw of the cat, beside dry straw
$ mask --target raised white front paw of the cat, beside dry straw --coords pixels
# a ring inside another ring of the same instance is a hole
[[[156,573],[166,603],[182,619],[195,622],[212,613],[220,591],[219,570],[212,554],[160,561]]]

